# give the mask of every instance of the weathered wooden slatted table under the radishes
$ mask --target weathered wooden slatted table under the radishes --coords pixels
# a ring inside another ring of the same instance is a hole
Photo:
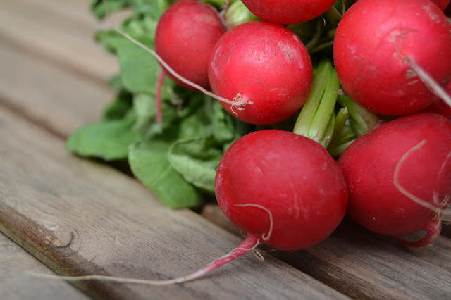
[[[137,180],[65,148],[113,96],[116,59],[92,40],[88,1],[0,0],[1,299],[450,299],[451,240],[405,249],[345,220],[305,251],[247,254],[184,285],[30,275],[166,279],[242,240],[217,206],[164,208]]]

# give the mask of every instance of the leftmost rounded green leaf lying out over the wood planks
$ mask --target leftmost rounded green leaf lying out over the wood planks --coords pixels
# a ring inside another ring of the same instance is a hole
[[[107,120],[85,125],[73,132],[67,141],[70,151],[80,156],[103,158],[106,161],[124,159],[128,147],[141,139],[142,132],[133,130],[135,117]]]

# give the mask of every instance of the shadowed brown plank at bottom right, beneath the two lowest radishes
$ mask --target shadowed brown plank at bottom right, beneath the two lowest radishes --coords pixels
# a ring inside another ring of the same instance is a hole
[[[236,232],[217,206],[209,206],[202,215]],[[354,299],[446,299],[451,295],[451,239],[446,237],[428,248],[407,249],[345,219],[319,245],[273,255]]]

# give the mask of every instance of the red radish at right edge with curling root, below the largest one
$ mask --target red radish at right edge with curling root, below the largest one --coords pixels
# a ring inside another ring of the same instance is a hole
[[[451,199],[451,122],[415,113],[356,139],[338,164],[350,193],[348,213],[383,235],[426,230],[410,246],[428,246],[440,233],[440,213]]]

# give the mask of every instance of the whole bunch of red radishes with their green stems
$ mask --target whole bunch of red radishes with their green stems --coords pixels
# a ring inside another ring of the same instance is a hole
[[[342,15],[334,2],[242,0],[261,20],[233,28],[198,0],[175,1],[161,16],[164,72],[259,130],[237,139],[216,173],[218,204],[245,241],[193,275],[147,283],[193,280],[260,243],[306,249],[345,213],[409,246],[439,235],[451,199],[450,1],[359,0]],[[324,13],[339,15],[330,57],[311,54],[295,33],[299,23],[328,23]],[[290,118],[291,130],[268,127]]]

